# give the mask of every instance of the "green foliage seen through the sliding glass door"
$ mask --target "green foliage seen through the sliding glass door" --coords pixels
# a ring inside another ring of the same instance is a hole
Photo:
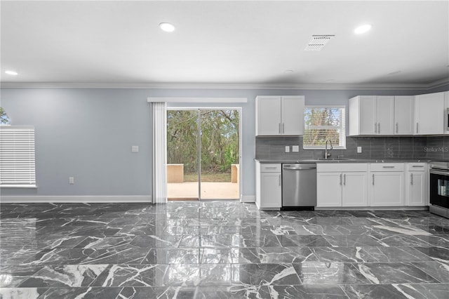
[[[201,172],[229,172],[239,163],[239,112],[200,110]],[[198,110],[167,111],[167,163],[198,170]]]

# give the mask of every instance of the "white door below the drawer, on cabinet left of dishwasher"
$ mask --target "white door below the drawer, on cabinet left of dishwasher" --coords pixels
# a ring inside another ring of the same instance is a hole
[[[260,208],[281,208],[281,173],[260,173]]]

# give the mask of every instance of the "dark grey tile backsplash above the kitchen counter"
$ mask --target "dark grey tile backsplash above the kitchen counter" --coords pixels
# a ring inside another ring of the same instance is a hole
[[[299,152],[291,152],[299,145]],[[290,152],[285,152],[290,146]],[[362,152],[357,153],[357,147]],[[276,136],[255,138],[256,159],[316,159],[324,157],[324,150],[303,150],[302,136]],[[449,159],[448,136],[391,136],[347,137],[346,150],[332,150],[332,157],[351,159]]]

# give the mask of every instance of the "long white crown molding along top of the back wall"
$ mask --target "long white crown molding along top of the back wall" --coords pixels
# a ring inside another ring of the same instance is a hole
[[[296,90],[428,90],[449,84],[449,78],[430,84],[226,84],[226,83],[70,83],[1,82],[0,88],[123,88],[123,89],[296,89]]]

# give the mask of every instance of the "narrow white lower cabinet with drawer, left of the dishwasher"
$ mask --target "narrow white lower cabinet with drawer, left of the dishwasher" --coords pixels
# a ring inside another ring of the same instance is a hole
[[[282,206],[281,164],[256,161],[255,204],[261,210],[279,210]]]

